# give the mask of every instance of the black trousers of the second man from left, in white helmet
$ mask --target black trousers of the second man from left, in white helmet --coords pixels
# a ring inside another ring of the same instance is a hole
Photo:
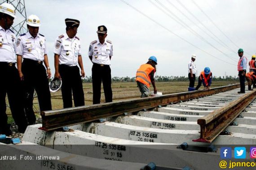
[[[26,118],[29,124],[34,124],[36,120],[33,110],[34,90],[37,93],[40,111],[52,110],[49,81],[44,65],[38,64],[35,60],[24,59],[22,73]]]

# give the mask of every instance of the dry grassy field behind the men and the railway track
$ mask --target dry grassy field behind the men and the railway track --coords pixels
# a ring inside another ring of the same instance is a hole
[[[233,83],[238,82],[227,82],[227,81],[213,81],[212,87],[219,87],[223,85],[229,85]],[[178,92],[184,92],[188,90],[188,81],[182,81],[182,82],[156,82],[156,88],[159,92],[162,92],[163,94],[169,94],[169,93],[178,93]],[[195,86],[197,85],[197,82],[195,83]],[[93,88],[92,83],[84,83],[83,84],[84,89],[84,98],[85,98],[85,105],[92,105],[93,104]],[[201,86],[201,89],[203,89],[203,85]],[[119,101],[119,100],[126,100],[126,99],[132,99],[132,98],[140,98],[141,93],[139,89],[137,88],[136,82],[113,82],[112,83],[112,91],[113,91],[113,101]],[[153,91],[153,87],[150,87],[150,91]],[[51,93],[51,100],[52,100],[52,107],[53,110],[56,109],[62,109],[62,94],[59,90],[56,93]],[[6,102],[8,105],[8,99],[6,98]],[[104,91],[102,87],[102,98],[101,102],[105,102],[104,97]],[[35,113],[39,110],[39,105],[37,98],[34,99],[34,110]],[[9,115],[8,122],[13,122],[11,112],[9,110],[9,107],[7,107],[7,114]],[[36,113],[37,116],[40,116],[39,113]]]

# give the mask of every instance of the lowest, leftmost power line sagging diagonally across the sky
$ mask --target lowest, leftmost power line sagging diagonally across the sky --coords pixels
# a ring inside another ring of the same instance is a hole
[[[207,51],[204,51],[203,49],[201,49],[201,48],[195,46],[194,44],[190,43],[189,41],[187,41],[186,39],[182,38],[182,37],[179,36],[178,34],[172,32],[171,30],[169,30],[168,28],[166,28],[165,26],[163,26],[163,25],[160,24],[159,22],[157,22],[157,21],[155,21],[154,19],[152,19],[151,17],[147,16],[145,13],[142,13],[140,10],[138,10],[138,9],[135,8],[135,7],[133,7],[131,4],[128,4],[126,1],[124,1],[124,0],[120,0],[120,1],[122,1],[124,4],[127,4],[129,7],[131,7],[132,9],[134,9],[135,11],[137,11],[138,13],[140,13],[141,15],[143,15],[144,17],[148,18],[149,20],[153,21],[153,22],[156,23],[157,25],[161,26],[163,29],[165,29],[165,30],[167,30],[168,32],[174,34],[174,35],[177,36],[178,38],[181,38],[181,39],[182,39],[183,41],[185,41],[186,43],[189,43],[191,46],[193,46],[193,47],[199,49],[200,51],[203,51],[204,53],[206,53],[206,54],[208,54],[208,55],[210,55],[210,56],[212,56],[212,57],[214,57],[214,58],[216,58],[216,59],[219,59],[218,57],[216,57],[216,56],[214,56],[214,55],[208,53]],[[223,61],[223,62],[225,62],[225,63],[227,63],[227,64],[231,64],[231,63],[229,63],[229,62],[226,62],[225,60],[222,60],[222,59],[219,59],[219,60],[221,60],[221,61]],[[235,64],[231,64],[231,65],[235,65]]]

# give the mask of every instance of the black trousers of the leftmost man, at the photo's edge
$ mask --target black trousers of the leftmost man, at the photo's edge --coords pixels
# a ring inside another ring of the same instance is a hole
[[[27,120],[22,102],[22,86],[18,70],[14,64],[9,66],[8,63],[0,62],[0,72],[2,80],[0,83],[0,134],[10,132],[6,115],[6,93],[14,122],[18,125],[19,130],[25,131]]]

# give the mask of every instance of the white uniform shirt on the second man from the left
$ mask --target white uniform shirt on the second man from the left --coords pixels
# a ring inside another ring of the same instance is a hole
[[[27,32],[17,38],[17,55],[22,55],[24,59],[35,61],[44,61],[44,55],[47,54],[45,38],[42,34],[37,34],[34,38]]]

